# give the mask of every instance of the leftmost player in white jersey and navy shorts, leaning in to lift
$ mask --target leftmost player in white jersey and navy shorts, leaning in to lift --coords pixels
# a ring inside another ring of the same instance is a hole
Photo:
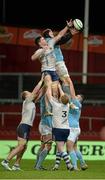
[[[36,114],[35,98],[37,97],[37,93],[40,90],[42,83],[43,83],[43,79],[39,81],[36,88],[34,88],[33,92],[23,91],[21,94],[23,99],[23,105],[22,105],[21,122],[17,127],[18,145],[9,153],[8,157],[1,162],[1,165],[9,171],[21,170],[20,161],[27,148],[30,130],[35,120],[35,114]],[[12,168],[10,168],[9,162],[15,156],[16,156],[15,164],[12,166]]]

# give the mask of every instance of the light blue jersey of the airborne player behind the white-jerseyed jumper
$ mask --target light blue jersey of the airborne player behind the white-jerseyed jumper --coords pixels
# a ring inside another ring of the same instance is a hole
[[[48,44],[50,44],[52,41],[52,38],[46,38],[46,41],[48,42]],[[54,45],[54,54],[56,56],[56,63],[64,61],[64,57],[63,57],[60,45]]]

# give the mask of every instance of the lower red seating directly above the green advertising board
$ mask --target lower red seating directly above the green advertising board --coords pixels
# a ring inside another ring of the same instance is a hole
[[[3,125],[2,117],[0,116],[0,139],[16,139],[16,128],[21,120],[21,104],[0,105],[0,112],[6,113],[4,114]],[[80,121],[80,139],[100,139],[100,130],[105,125],[103,117],[105,117],[105,106],[84,105]],[[40,138],[38,131],[39,121],[40,114],[37,106],[37,115],[30,135],[31,139]]]

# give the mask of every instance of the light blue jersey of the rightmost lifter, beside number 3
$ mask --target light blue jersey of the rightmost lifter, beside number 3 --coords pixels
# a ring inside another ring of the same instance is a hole
[[[72,128],[79,127],[79,119],[81,115],[82,104],[78,99],[72,99],[72,103],[75,104],[79,109],[70,109],[69,111],[69,126]]]

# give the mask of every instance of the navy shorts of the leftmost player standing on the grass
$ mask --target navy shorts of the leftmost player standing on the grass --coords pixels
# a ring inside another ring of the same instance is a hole
[[[17,127],[17,136],[28,140],[30,129],[31,129],[31,126],[29,126],[28,124],[19,124],[19,126]]]

